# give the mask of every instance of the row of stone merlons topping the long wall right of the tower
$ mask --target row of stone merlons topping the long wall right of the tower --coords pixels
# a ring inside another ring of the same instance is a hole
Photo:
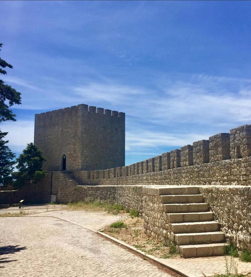
[[[96,173],[95,176],[105,179],[127,177],[249,156],[251,156],[251,124],[232,129],[230,134],[216,134],[209,140],[199,140],[193,145],[188,144],[181,149],[165,152],[129,166],[107,169],[99,175]],[[92,171],[88,176],[87,178],[93,176]]]

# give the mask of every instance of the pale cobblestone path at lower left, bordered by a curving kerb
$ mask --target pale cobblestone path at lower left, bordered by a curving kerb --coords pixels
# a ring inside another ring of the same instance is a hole
[[[93,228],[101,226],[98,220],[102,219],[103,226],[111,220],[102,213],[95,213],[93,219],[93,213],[66,212],[61,217],[68,215],[68,220],[73,220],[75,214],[78,224]],[[0,218],[1,277],[171,276],[93,231],[41,217],[49,213]]]

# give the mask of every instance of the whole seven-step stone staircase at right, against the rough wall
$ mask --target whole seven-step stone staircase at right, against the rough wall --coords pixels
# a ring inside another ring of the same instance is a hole
[[[182,257],[223,254],[225,235],[198,187],[163,188],[159,194]]]

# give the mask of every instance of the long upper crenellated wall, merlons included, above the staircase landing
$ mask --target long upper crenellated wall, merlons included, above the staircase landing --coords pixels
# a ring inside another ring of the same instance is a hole
[[[249,186],[250,170],[251,125],[244,125],[129,166],[74,176],[89,185]]]

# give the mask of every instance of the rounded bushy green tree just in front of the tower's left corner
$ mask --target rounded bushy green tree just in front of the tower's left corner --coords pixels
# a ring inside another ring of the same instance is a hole
[[[14,188],[19,189],[28,185],[31,180],[34,180],[35,183],[41,180],[46,173],[42,170],[44,161],[46,159],[43,157],[41,150],[33,143],[28,143],[26,149],[16,159],[16,168],[19,171],[12,173]]]

